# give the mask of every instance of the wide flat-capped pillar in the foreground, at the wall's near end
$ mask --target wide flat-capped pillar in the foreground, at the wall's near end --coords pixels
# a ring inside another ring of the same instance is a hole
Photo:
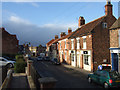
[[[53,77],[44,77],[38,79],[40,83],[40,89],[46,90],[47,88],[54,88],[57,80]]]

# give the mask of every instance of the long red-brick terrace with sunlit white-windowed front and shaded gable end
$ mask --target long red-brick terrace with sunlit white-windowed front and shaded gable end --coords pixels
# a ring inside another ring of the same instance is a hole
[[[107,1],[105,15],[85,24],[80,16],[78,28],[57,40],[59,58],[74,67],[87,71],[97,70],[98,65],[110,62],[109,28],[116,21],[112,4]]]

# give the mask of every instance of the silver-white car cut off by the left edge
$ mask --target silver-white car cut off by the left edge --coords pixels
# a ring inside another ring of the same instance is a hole
[[[8,60],[4,57],[0,57],[0,66],[7,65],[9,68],[14,67],[15,61]]]

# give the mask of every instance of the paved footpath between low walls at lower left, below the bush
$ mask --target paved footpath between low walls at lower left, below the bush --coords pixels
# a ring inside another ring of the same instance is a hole
[[[10,89],[19,88],[30,90],[26,73],[13,73],[12,76]]]

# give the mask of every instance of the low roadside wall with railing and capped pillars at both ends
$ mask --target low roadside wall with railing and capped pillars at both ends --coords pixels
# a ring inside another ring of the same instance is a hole
[[[42,74],[38,73],[32,61],[27,61],[27,68],[27,75],[32,77],[37,89],[45,90],[46,88],[54,88],[57,80],[49,76],[44,77]]]

